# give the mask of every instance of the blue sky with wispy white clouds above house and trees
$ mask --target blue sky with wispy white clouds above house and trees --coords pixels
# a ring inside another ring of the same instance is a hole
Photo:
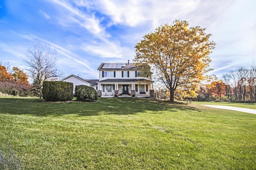
[[[206,28],[218,78],[256,66],[256,0],[0,0],[0,61],[22,66],[36,41],[58,49],[64,76],[97,79],[100,63],[125,63],[134,46],[174,20]]]

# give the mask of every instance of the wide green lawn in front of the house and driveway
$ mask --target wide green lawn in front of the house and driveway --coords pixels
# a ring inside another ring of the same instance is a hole
[[[0,108],[0,150],[24,169],[256,169],[254,114],[138,98]]]

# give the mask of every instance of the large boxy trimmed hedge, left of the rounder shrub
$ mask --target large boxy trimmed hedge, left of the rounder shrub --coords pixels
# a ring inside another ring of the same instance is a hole
[[[44,81],[42,89],[45,101],[69,101],[73,99],[73,83]]]

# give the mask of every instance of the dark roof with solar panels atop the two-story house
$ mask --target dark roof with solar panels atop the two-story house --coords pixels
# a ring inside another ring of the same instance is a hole
[[[148,64],[145,65],[149,67]],[[101,63],[98,70],[142,70],[142,67],[143,64],[138,63]]]

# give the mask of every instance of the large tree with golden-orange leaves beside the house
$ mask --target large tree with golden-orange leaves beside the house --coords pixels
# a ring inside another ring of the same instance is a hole
[[[194,87],[207,78],[209,55],[215,43],[209,39],[211,34],[204,31],[199,26],[188,27],[187,21],[176,20],[146,34],[135,46],[134,61],[152,66],[156,78],[170,90],[172,102],[178,86]]]

